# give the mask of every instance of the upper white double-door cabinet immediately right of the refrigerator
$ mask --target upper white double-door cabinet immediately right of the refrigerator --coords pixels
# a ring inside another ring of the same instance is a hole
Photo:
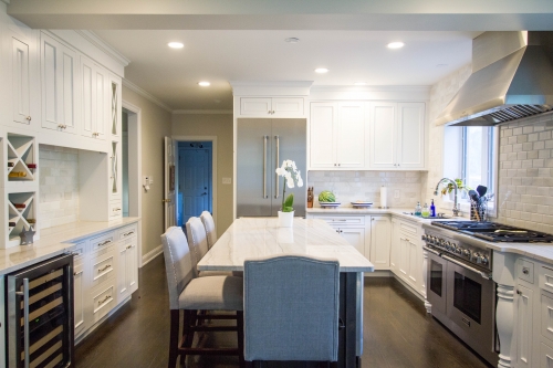
[[[310,167],[351,169],[365,166],[365,103],[312,103]]]

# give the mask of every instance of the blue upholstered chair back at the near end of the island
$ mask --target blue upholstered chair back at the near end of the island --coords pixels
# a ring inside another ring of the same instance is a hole
[[[246,261],[246,360],[336,361],[338,293],[338,261]]]

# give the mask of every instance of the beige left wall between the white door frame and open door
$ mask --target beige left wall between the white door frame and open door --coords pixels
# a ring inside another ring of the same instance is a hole
[[[154,177],[150,190],[142,192],[142,253],[161,244],[164,229],[164,137],[171,135],[171,114],[123,86],[123,101],[142,109],[142,175]]]

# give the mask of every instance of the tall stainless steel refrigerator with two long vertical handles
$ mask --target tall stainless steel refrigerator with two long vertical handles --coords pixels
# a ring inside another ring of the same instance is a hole
[[[293,189],[294,215],[304,217],[307,183],[307,123],[298,118],[237,120],[237,217],[271,217],[282,206],[282,161],[295,161],[304,186]]]

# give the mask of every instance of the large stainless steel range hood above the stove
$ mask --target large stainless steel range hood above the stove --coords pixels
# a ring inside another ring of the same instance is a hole
[[[436,125],[492,126],[553,111],[553,32],[484,32],[472,74]]]

